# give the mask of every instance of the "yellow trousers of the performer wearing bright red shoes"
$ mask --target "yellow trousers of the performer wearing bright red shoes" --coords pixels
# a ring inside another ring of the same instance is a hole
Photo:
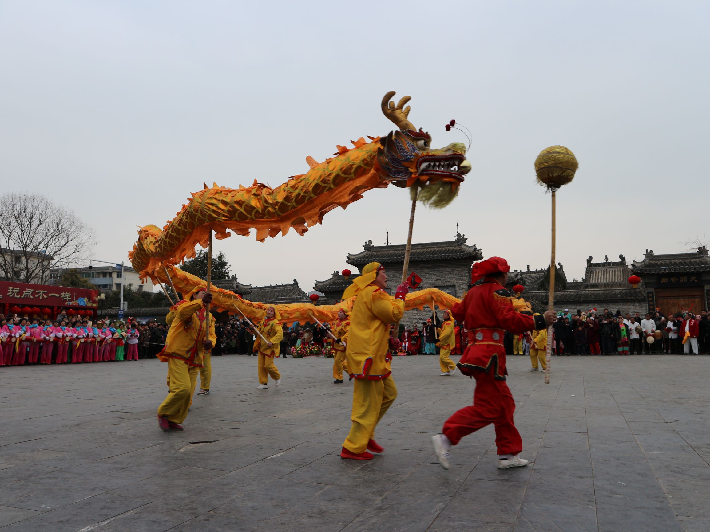
[[[353,385],[352,426],[343,447],[351,453],[364,453],[375,437],[375,426],[397,399],[392,376],[382,380],[355,379]]]

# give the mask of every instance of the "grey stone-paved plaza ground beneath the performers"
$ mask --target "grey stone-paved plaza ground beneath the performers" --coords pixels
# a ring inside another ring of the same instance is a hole
[[[331,361],[214,358],[212,394],[163,433],[157,360],[1,370],[0,531],[710,531],[710,358],[510,357],[535,462],[496,469],[491,427],[437,465],[430,436],[474,382],[399,357],[369,462],[342,460],[352,384]]]

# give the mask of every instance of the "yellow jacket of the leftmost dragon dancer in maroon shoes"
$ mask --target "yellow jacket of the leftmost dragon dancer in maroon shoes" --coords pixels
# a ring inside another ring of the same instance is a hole
[[[163,362],[168,362],[168,358],[178,358],[189,366],[202,367],[202,343],[207,340],[204,327],[207,312],[202,299],[190,301],[192,294],[198,291],[193,290],[187,301],[180,301],[170,309],[175,312],[175,317],[168,331],[168,338],[165,338],[165,348],[158,354],[158,358]],[[212,316],[209,317],[209,340],[212,340],[213,345],[217,342]]]

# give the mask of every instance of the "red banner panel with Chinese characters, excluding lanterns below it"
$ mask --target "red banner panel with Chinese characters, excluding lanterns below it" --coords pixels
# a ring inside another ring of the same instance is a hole
[[[98,290],[0,281],[0,304],[38,307],[76,306],[95,309],[98,306],[98,299]]]

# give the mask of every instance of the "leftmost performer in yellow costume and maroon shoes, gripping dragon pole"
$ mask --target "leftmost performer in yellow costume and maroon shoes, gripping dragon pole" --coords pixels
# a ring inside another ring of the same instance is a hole
[[[210,301],[212,294],[197,287],[170,309],[174,313],[173,323],[165,348],[158,353],[160,360],[168,362],[168,397],[158,407],[158,426],[163,431],[182,431],[180,423],[187,417],[204,353],[212,349],[217,340],[214,319],[209,320],[209,333],[204,323],[205,305]]]

